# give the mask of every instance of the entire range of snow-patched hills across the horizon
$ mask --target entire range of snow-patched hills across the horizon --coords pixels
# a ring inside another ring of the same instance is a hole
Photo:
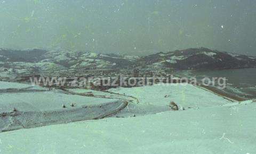
[[[15,74],[67,70],[115,68],[231,69],[256,67],[256,57],[209,48],[188,48],[147,56],[102,54],[53,47],[45,50],[10,50],[0,48],[0,77]]]

